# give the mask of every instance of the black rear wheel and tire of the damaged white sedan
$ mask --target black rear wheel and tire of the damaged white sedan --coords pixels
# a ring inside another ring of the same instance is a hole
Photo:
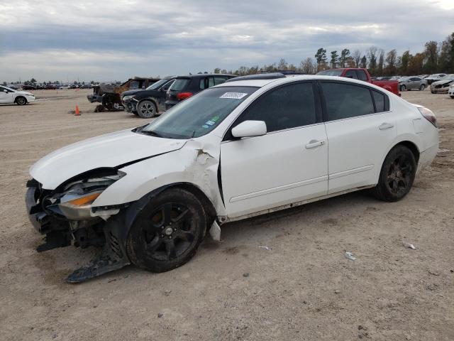
[[[401,200],[411,189],[416,175],[416,160],[406,146],[395,146],[384,159],[380,177],[372,195],[394,202]]]

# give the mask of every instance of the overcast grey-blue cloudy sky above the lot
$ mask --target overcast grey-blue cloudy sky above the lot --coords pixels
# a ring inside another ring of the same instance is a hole
[[[320,47],[419,52],[453,31],[454,0],[0,0],[0,81],[299,64]]]

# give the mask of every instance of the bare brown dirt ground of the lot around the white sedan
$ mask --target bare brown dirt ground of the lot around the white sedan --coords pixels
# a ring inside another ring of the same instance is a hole
[[[352,193],[228,224],[222,242],[207,238],[174,271],[128,266],[74,285],[65,276],[94,253],[35,251],[28,168],[72,142],[145,122],[94,113],[90,91],[38,91],[34,104],[0,105],[1,340],[454,340],[448,95],[403,94],[441,126],[441,152],[404,200]],[[76,104],[80,117],[69,113]]]

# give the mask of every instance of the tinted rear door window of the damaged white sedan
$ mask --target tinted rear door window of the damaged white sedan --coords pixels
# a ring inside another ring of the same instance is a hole
[[[348,119],[375,112],[367,87],[338,82],[321,82],[326,103],[326,121]]]

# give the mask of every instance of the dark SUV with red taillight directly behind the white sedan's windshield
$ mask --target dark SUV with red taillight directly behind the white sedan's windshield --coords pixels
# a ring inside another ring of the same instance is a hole
[[[235,75],[223,75],[221,73],[203,73],[197,75],[179,76],[175,79],[172,86],[167,91],[167,101],[165,108],[169,109],[183,99],[191,97],[197,92],[201,92],[214,85],[222,84],[226,80],[236,77]]]

